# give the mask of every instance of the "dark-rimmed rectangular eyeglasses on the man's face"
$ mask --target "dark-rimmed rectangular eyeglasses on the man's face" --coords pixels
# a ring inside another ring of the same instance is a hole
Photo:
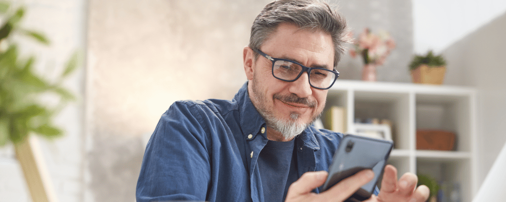
[[[291,60],[270,57],[259,49],[254,49],[254,51],[272,62],[272,75],[282,81],[296,81],[302,73],[307,72],[311,87],[326,90],[332,87],[339,77],[339,72],[335,69],[332,71],[324,68],[306,67]]]

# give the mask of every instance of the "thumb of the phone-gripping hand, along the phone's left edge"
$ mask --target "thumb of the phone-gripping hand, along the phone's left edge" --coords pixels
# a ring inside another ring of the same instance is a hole
[[[291,183],[290,187],[288,187],[286,198],[311,192],[311,190],[321,186],[325,182],[327,175],[328,173],[326,171],[304,173],[301,178]]]

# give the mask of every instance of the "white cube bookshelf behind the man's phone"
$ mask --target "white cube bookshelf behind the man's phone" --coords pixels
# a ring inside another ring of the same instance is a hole
[[[350,130],[355,118],[390,120],[394,150],[389,163],[399,177],[411,172],[458,183],[462,201],[471,201],[478,189],[475,97],[467,87],[338,80],[328,91],[326,106],[345,108]],[[455,150],[417,150],[417,129],[454,132]]]

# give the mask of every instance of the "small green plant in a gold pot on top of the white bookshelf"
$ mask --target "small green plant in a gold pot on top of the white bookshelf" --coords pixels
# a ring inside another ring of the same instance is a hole
[[[409,69],[413,83],[441,85],[446,74],[446,61],[443,56],[435,56],[429,51],[425,56],[415,55]]]

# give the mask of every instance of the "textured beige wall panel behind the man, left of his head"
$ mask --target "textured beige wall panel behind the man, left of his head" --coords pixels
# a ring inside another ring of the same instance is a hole
[[[231,99],[268,1],[90,1],[89,200],[132,200],[149,138],[180,99]]]

